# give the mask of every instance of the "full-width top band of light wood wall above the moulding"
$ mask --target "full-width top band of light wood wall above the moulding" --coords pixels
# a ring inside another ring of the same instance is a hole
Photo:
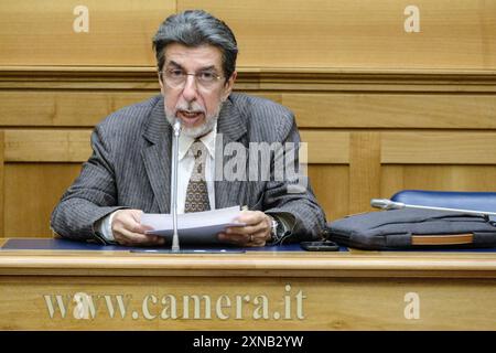
[[[175,10],[205,9],[235,31],[239,65],[255,67],[496,68],[496,3],[411,1],[3,0],[0,65],[154,66],[151,38]],[[76,6],[88,32],[76,33]]]

